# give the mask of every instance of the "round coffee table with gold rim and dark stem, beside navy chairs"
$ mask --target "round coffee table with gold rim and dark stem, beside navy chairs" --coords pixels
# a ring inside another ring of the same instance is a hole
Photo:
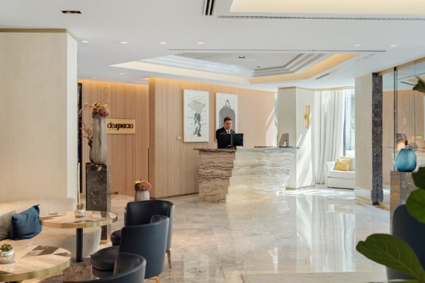
[[[40,224],[52,228],[77,229],[77,262],[83,261],[83,229],[112,224],[118,216],[112,212],[87,210],[86,216],[76,217],[74,212],[57,212],[40,217]]]

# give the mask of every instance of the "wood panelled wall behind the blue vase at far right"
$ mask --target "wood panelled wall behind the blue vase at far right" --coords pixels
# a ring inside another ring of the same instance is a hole
[[[394,146],[394,92],[384,91],[382,93],[382,120],[383,139],[382,139],[382,183],[390,183],[390,171],[394,170],[392,158],[392,149]],[[416,108],[415,108],[416,100]],[[416,122],[415,122],[416,117]],[[405,119],[405,123],[403,122]],[[409,144],[414,142],[416,136],[422,136],[422,139],[416,139],[419,151],[425,146],[424,141],[424,93],[412,90],[397,91],[397,132],[406,134]]]

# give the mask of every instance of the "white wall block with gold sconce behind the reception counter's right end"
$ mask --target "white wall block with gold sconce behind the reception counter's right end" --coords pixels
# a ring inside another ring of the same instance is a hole
[[[305,106],[314,109],[314,91],[305,88],[279,88],[278,90],[278,139],[289,133],[290,146],[297,146],[288,179],[288,187],[299,188],[314,185],[312,171],[312,125],[314,113],[310,115],[310,128],[305,129]]]

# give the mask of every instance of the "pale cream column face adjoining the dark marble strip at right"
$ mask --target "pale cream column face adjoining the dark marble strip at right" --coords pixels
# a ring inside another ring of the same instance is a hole
[[[356,78],[356,198],[371,200],[372,74]]]

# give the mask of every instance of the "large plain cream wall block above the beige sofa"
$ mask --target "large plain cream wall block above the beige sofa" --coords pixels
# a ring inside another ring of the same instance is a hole
[[[0,202],[77,198],[77,42],[67,33],[0,36]]]

